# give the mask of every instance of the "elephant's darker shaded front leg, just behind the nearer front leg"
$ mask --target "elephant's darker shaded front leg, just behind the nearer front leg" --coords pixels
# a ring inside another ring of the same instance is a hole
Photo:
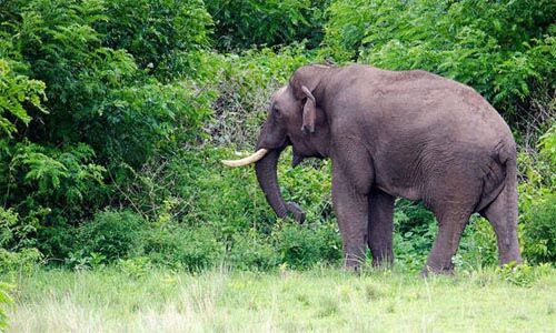
[[[389,265],[394,261],[394,201],[395,198],[378,189],[369,195],[368,245],[373,265]]]

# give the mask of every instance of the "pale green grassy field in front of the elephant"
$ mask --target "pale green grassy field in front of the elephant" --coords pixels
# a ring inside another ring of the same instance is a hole
[[[13,332],[555,332],[556,271],[420,279],[339,270],[200,274],[118,269],[18,278]],[[527,283],[525,283],[527,284]]]

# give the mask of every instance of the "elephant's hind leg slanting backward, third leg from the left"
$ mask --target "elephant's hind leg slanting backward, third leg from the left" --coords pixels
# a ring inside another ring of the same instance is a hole
[[[423,275],[428,273],[453,273],[451,258],[456,254],[461,233],[469,221],[471,212],[470,210],[463,211],[459,208],[436,215],[438,219],[438,234],[428,255],[427,264],[423,269]]]

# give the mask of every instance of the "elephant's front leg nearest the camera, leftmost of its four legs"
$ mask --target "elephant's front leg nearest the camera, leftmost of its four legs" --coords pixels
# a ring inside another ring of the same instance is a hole
[[[368,196],[338,169],[332,170],[332,202],[344,241],[345,268],[358,271],[367,249]]]

